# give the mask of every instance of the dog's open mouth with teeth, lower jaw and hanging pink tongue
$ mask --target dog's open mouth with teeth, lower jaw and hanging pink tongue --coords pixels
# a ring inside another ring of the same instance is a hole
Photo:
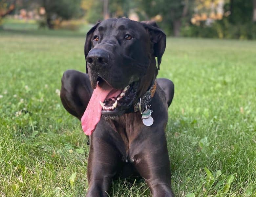
[[[137,86],[138,82],[133,82],[123,89],[115,89],[107,81],[98,77],[96,88],[81,118],[84,133],[91,135],[101,116],[115,119],[130,112],[136,99]]]

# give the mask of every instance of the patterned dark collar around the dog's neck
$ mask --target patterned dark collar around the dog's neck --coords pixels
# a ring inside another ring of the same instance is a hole
[[[157,89],[157,80],[155,80],[150,88],[145,92],[145,94],[143,94],[139,100],[134,104],[133,106],[133,110],[134,112],[138,112],[139,110],[139,104],[141,106],[141,110],[143,111],[143,109],[146,108],[147,105],[149,105],[149,103],[151,102],[152,98],[154,97],[155,93],[156,93],[156,89]]]

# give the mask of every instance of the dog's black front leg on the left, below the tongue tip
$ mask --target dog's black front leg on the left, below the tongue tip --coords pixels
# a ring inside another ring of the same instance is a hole
[[[120,160],[120,154],[111,143],[110,137],[102,135],[108,135],[108,132],[98,129],[98,126],[91,136],[87,168],[89,187],[86,197],[108,196],[109,185],[117,174],[117,163]]]

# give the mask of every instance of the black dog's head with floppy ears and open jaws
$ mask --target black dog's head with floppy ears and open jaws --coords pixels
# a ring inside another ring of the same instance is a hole
[[[156,78],[165,44],[166,35],[151,22],[107,19],[89,30],[86,72],[92,87],[105,94],[102,115],[125,113],[145,93]]]

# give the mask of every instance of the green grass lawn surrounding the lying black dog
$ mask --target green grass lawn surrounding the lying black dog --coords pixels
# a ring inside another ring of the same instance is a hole
[[[85,71],[84,40],[0,31],[0,196],[86,194],[87,138],[58,95],[65,70]],[[168,38],[158,77],[176,88],[166,136],[177,196],[256,196],[255,51],[255,41]],[[118,180],[109,195],[150,192]]]

